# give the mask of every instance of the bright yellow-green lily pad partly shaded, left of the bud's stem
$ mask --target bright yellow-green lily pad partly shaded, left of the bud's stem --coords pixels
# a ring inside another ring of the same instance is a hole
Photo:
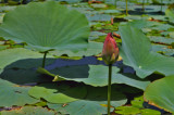
[[[46,88],[45,88],[46,87]],[[75,93],[76,98],[70,97],[69,94],[64,94],[59,92],[58,86],[55,84],[47,84],[42,86],[36,86],[29,90],[29,95],[36,98],[36,99],[45,99],[50,103],[69,103],[78,100],[77,98],[82,98],[86,95],[86,89],[84,87],[74,87],[70,88],[69,86],[69,93]],[[65,89],[65,90],[67,90]]]

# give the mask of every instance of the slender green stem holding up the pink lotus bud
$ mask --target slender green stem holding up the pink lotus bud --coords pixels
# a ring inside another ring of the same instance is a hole
[[[109,64],[109,78],[108,78],[108,115],[110,115],[111,107],[111,79],[112,79],[112,64]]]

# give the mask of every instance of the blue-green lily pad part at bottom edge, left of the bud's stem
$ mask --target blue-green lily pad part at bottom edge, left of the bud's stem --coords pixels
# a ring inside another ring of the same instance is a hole
[[[50,104],[48,106],[62,114],[70,115],[102,115],[107,114],[107,107],[102,106],[107,104],[105,101],[88,101],[79,100],[75,102],[67,103],[65,106],[63,104]],[[113,108],[111,108],[113,111]]]

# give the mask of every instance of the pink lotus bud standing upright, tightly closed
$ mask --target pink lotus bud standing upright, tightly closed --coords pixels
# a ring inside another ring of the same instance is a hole
[[[102,49],[102,60],[105,64],[113,64],[119,56],[119,47],[114,40],[112,33],[109,33]]]

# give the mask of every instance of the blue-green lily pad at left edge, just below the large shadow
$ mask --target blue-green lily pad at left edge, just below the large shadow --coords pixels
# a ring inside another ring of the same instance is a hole
[[[29,89],[30,87],[22,87],[0,79],[0,106],[22,106],[37,103],[39,100],[28,95]]]

